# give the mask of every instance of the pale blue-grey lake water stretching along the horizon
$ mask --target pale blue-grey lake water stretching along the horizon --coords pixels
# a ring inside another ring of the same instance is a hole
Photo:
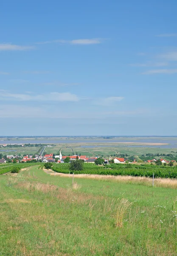
[[[127,139],[119,140],[118,138],[111,139],[37,139],[37,140],[0,140],[0,144],[28,144],[28,143],[42,143],[42,144],[56,144],[56,143],[112,143],[112,142],[131,142],[131,143],[168,143],[169,145],[124,145],[125,147],[148,147],[148,148],[177,148],[177,138],[142,138],[142,139]],[[109,145],[108,145],[109,146]],[[122,145],[111,145],[109,147],[122,146]],[[107,147],[106,145],[86,145],[81,146],[82,148],[96,148],[96,147]]]

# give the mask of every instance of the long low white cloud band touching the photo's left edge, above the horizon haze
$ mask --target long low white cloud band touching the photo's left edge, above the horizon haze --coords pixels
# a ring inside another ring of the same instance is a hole
[[[21,94],[21,93],[9,93],[4,90],[0,90],[0,99],[2,100],[16,100],[16,101],[58,101],[58,102],[77,102],[78,96],[71,93],[42,93],[42,94]]]

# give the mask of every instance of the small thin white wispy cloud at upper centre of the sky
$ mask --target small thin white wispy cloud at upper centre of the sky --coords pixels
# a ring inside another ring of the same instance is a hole
[[[103,39],[101,38],[91,38],[91,39],[75,39],[75,40],[52,40],[52,41],[44,41],[38,42],[36,44],[53,44],[53,43],[60,43],[60,44],[101,44]]]

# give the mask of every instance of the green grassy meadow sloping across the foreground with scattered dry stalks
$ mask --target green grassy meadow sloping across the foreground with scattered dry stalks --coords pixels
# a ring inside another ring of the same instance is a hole
[[[48,175],[0,176],[0,256],[177,255],[177,190]]]

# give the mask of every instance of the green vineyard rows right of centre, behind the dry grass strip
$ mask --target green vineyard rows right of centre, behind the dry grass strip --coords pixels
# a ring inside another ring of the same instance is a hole
[[[54,164],[53,171],[70,173],[69,164]],[[177,166],[150,166],[146,164],[110,164],[96,166],[95,164],[85,163],[83,171],[75,171],[75,174],[98,174],[98,175],[131,175],[155,178],[177,178]]]

